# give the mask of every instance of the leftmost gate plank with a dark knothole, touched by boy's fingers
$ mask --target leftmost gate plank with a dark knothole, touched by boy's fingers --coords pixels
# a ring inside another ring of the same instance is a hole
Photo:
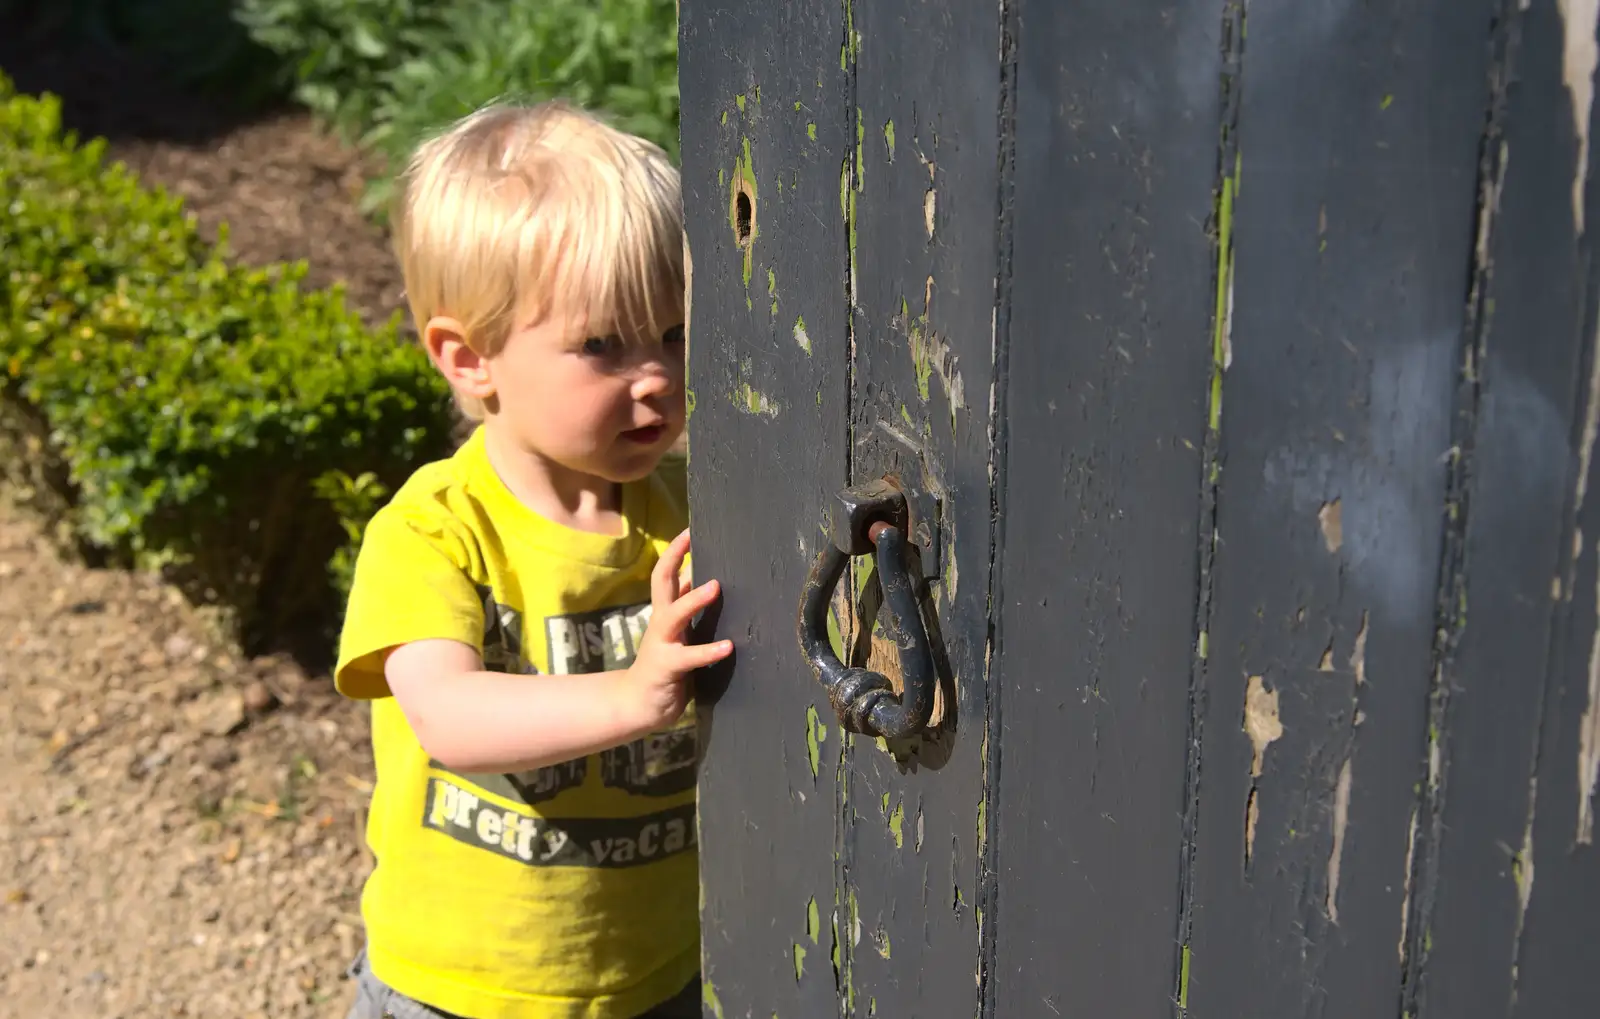
[[[842,35],[837,0],[682,5],[694,571],[723,581],[717,630],[736,641],[731,675],[701,680],[702,977],[718,1019],[835,1013],[822,758],[838,733],[794,617],[845,483],[845,224],[821,214],[854,144]]]

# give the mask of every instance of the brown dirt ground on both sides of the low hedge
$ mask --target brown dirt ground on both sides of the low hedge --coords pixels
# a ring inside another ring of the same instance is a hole
[[[21,91],[381,320],[400,283],[358,160],[304,117],[232,120],[120,54],[19,48]],[[0,1017],[342,1016],[360,945],[366,712],[243,661],[147,576],[62,561],[0,502]]]

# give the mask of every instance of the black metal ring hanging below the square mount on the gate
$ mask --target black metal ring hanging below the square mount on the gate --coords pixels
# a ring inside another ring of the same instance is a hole
[[[904,691],[894,693],[888,677],[870,669],[853,669],[838,661],[827,640],[827,611],[834,587],[850,563],[850,553],[830,544],[806,576],[800,600],[800,653],[827,691],[838,723],[851,733],[901,739],[922,731],[933,717],[936,673],[928,633],[922,625],[917,589],[906,571],[906,534],[885,520],[867,528],[888,609],[885,629],[899,651]]]

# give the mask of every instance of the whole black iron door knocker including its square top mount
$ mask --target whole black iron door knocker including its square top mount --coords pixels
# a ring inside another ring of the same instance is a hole
[[[851,733],[902,739],[926,728],[938,681],[915,582],[906,568],[906,496],[877,480],[846,488],[829,518],[830,544],[818,553],[800,598],[800,653],[827,691],[838,723]],[[870,669],[838,661],[827,640],[834,587],[851,557],[874,555],[883,585],[885,629],[899,651],[902,693]]]

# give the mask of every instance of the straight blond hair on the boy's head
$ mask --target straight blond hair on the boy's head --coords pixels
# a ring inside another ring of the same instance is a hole
[[[426,139],[390,222],[418,331],[450,315],[482,355],[557,306],[624,338],[682,322],[678,171],[570,102],[494,102]]]

